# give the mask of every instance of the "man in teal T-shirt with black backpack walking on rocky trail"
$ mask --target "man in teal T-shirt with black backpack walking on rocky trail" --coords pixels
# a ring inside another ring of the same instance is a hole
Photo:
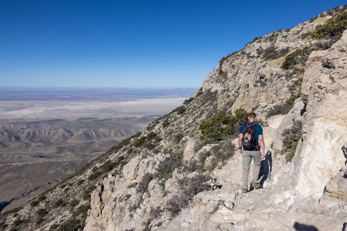
[[[242,154],[242,193],[248,192],[247,182],[252,159],[254,162],[252,186],[260,187],[258,180],[260,161],[265,157],[263,128],[255,122],[254,112],[249,113],[247,118],[249,122],[241,126],[238,140],[238,149]]]

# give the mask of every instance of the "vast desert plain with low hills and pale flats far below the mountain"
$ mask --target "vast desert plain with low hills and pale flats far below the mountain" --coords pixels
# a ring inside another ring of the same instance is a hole
[[[0,87],[0,211],[143,131],[195,90]]]

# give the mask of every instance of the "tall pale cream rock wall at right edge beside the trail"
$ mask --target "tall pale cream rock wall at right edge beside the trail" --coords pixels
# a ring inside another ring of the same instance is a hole
[[[302,84],[306,101],[302,142],[293,161],[293,184],[304,196],[322,196],[324,186],[344,165],[347,140],[347,32],[329,50],[308,57]],[[327,63],[330,64],[327,68]]]

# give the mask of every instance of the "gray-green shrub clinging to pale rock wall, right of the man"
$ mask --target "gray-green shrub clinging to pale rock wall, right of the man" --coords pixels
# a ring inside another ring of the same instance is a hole
[[[282,132],[284,152],[286,153],[286,162],[291,162],[294,157],[296,146],[302,136],[302,121],[298,120],[293,123],[290,128],[286,128]]]

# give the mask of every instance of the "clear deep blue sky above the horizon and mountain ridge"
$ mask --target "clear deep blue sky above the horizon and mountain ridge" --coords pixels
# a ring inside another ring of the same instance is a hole
[[[344,1],[0,2],[0,86],[199,87],[254,37]]]

